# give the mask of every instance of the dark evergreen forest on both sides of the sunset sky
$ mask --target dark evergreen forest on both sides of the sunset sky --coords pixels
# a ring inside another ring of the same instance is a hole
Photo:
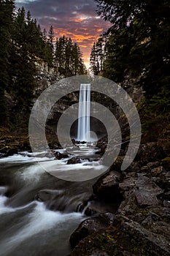
[[[111,25],[93,43],[91,72],[116,83],[133,81],[144,91],[139,105],[143,131],[160,129],[159,124],[169,121],[170,110],[169,1],[96,2],[98,15]],[[87,74],[87,70],[71,38],[55,38],[53,26],[42,31],[29,11],[16,10],[15,1],[1,0],[0,7],[0,123],[15,129],[20,113],[30,113],[39,64],[44,62],[63,77]]]

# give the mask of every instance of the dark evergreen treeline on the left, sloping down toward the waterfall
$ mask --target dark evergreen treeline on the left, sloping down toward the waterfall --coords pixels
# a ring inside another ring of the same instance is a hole
[[[0,1],[0,123],[9,123],[9,94],[18,112],[28,113],[34,98],[37,63],[44,61],[58,75],[82,75],[82,53],[72,39],[55,39],[53,26],[42,31],[24,8],[15,10],[15,1]]]

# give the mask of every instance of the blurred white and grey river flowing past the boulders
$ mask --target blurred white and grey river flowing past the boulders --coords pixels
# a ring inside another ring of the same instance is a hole
[[[63,181],[47,173],[37,159],[46,168],[55,166],[65,173],[83,171],[89,165],[85,159],[66,165],[68,159],[56,160],[39,153],[35,158],[28,152],[0,159],[1,256],[69,255],[69,236],[85,219],[76,210],[90,197],[96,179]],[[49,195],[50,200],[46,200]]]

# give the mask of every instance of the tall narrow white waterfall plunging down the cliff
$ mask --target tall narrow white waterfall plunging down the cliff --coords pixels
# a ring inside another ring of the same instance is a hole
[[[90,83],[80,84],[77,140],[90,139]]]

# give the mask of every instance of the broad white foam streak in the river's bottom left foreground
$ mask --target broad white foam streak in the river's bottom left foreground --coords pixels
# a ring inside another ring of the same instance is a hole
[[[43,203],[36,202],[34,210],[31,214],[27,215],[27,224],[20,228],[15,235],[1,241],[1,254],[9,255],[9,252],[12,252],[12,250],[14,250],[23,241],[37,233],[42,233],[43,230],[56,228],[56,233],[59,234],[60,230],[64,229],[66,222],[72,222],[74,219],[80,219],[81,221],[82,214],[61,214],[58,211],[47,210]]]

